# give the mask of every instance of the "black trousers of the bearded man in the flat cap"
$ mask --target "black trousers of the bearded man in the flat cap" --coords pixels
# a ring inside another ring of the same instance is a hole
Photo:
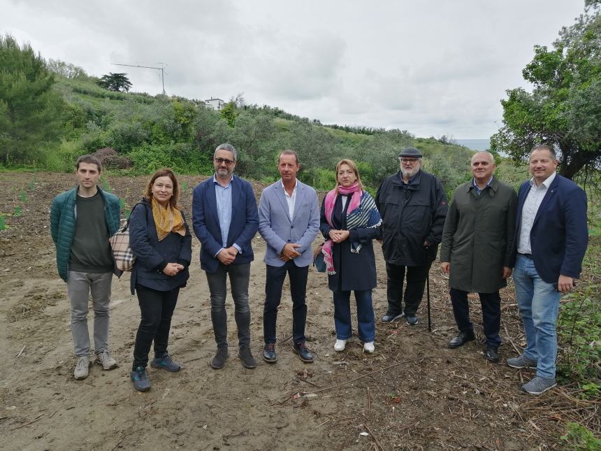
[[[405,288],[405,315],[415,315],[421,298],[423,288],[426,286],[426,277],[430,271],[430,264],[423,266],[398,266],[386,263],[386,297],[388,298],[389,315],[403,313],[403,280],[405,269],[407,271],[407,287]]]

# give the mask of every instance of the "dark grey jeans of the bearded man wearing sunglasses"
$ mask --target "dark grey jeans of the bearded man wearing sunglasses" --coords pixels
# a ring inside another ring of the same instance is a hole
[[[215,273],[206,273],[211,293],[211,321],[217,348],[227,348],[227,275],[234,303],[234,318],[238,327],[238,346],[250,346],[250,309],[248,307],[248,282],[250,263],[224,265],[219,263]]]

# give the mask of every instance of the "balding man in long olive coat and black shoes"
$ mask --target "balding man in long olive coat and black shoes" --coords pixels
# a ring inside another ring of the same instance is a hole
[[[442,231],[440,266],[450,274],[451,303],[459,334],[449,348],[474,339],[468,293],[479,294],[486,335],[484,358],[497,363],[501,344],[499,289],[507,285],[514,265],[513,240],[516,192],[493,177],[494,157],[477,152],[472,157],[474,178],[453,194]]]

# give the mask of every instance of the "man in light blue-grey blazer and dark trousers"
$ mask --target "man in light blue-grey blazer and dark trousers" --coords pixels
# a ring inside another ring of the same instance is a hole
[[[282,178],[263,189],[259,201],[259,234],[267,242],[263,359],[269,363],[277,361],[277,306],[288,273],[292,297],[292,350],[302,361],[310,363],[313,356],[305,346],[305,292],[309,266],[313,262],[311,244],[319,231],[317,193],[297,180],[296,173],[301,164],[294,150],[284,150],[280,154],[277,169]]]

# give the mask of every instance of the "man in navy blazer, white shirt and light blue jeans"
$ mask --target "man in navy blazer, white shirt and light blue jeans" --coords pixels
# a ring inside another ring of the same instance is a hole
[[[556,386],[559,301],[579,278],[588,244],[586,194],[556,167],[555,151],[536,145],[530,152],[533,178],[518,193],[514,283],[526,349],[507,365],[536,368],[535,378],[522,386],[530,394]]]

